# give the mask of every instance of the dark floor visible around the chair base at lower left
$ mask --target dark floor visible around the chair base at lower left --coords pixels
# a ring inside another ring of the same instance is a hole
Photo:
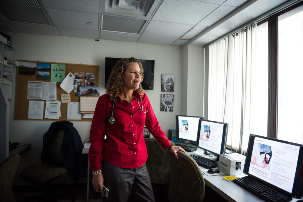
[[[58,192],[60,193],[75,193],[76,194],[76,202],[86,202],[86,190],[69,190],[69,191],[64,191],[64,192]],[[26,196],[34,196],[34,195],[42,195],[44,194],[43,192],[18,192],[14,193],[15,195],[15,200],[16,202],[23,202],[23,198]],[[37,200],[32,200],[37,201]],[[70,198],[62,198],[62,199],[56,199],[57,202],[71,202],[72,200]],[[101,195],[98,195],[97,199],[93,198],[93,192],[91,191],[90,196],[89,196],[89,202],[102,202],[102,197]]]

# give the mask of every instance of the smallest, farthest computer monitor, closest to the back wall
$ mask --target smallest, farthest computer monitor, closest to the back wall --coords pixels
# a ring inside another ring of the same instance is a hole
[[[176,115],[176,138],[196,145],[201,119],[199,116]]]

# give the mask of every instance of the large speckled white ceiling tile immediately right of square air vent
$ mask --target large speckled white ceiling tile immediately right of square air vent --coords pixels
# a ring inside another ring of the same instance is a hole
[[[219,4],[192,0],[163,0],[153,20],[196,25]]]

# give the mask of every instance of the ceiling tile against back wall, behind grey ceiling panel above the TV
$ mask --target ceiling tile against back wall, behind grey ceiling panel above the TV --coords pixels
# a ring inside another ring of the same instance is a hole
[[[125,34],[111,31],[100,32],[100,38],[105,40],[137,42],[139,37],[140,35],[135,34]]]

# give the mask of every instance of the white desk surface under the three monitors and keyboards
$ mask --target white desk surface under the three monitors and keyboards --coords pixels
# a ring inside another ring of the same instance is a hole
[[[203,151],[202,149],[198,148],[196,151]],[[188,155],[192,154],[192,152],[186,152]],[[205,168],[199,166],[201,171],[205,170]],[[228,175],[212,175],[207,176],[203,171],[203,177],[205,184],[207,184],[210,188],[215,190],[218,194],[224,197],[228,201],[264,201],[261,198],[257,197],[255,194],[252,194],[248,190],[240,187],[239,185],[231,182],[226,183],[221,180],[221,177],[225,177]],[[293,198],[292,201],[297,201],[298,199]]]

